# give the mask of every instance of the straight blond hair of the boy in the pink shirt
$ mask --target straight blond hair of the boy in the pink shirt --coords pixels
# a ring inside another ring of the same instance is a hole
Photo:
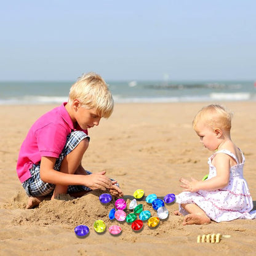
[[[114,100],[106,82],[99,74],[83,74],[70,88],[68,102],[78,99],[82,107],[96,108],[102,118],[109,118],[113,112]]]

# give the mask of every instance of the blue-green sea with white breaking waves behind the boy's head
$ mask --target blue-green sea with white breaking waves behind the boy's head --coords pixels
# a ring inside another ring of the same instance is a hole
[[[255,81],[106,81],[116,103],[256,101]],[[0,105],[68,100],[72,81],[0,82]]]

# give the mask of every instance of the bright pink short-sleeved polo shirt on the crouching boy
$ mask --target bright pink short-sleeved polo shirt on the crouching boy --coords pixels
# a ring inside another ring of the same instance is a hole
[[[30,168],[38,164],[42,156],[58,158],[66,143],[66,137],[74,129],[66,103],[47,112],[31,126],[20,148],[17,174],[20,182],[31,177]],[[88,134],[87,130],[82,130]]]

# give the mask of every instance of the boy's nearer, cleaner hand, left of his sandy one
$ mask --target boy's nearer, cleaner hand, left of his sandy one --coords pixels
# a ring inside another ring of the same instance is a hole
[[[84,175],[86,177],[85,186],[91,190],[107,190],[112,186],[110,178],[105,176],[106,172],[97,172],[95,174]]]

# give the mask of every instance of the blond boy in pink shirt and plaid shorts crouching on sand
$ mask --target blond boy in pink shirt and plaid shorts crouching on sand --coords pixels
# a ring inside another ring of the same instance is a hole
[[[39,118],[30,128],[17,161],[17,174],[28,199],[27,209],[46,196],[70,193],[82,196],[91,190],[110,190],[122,196],[116,181],[105,171],[92,174],[81,165],[89,146],[87,129],[98,126],[113,112],[113,97],[95,73],[84,74],[70,89],[68,102]]]

